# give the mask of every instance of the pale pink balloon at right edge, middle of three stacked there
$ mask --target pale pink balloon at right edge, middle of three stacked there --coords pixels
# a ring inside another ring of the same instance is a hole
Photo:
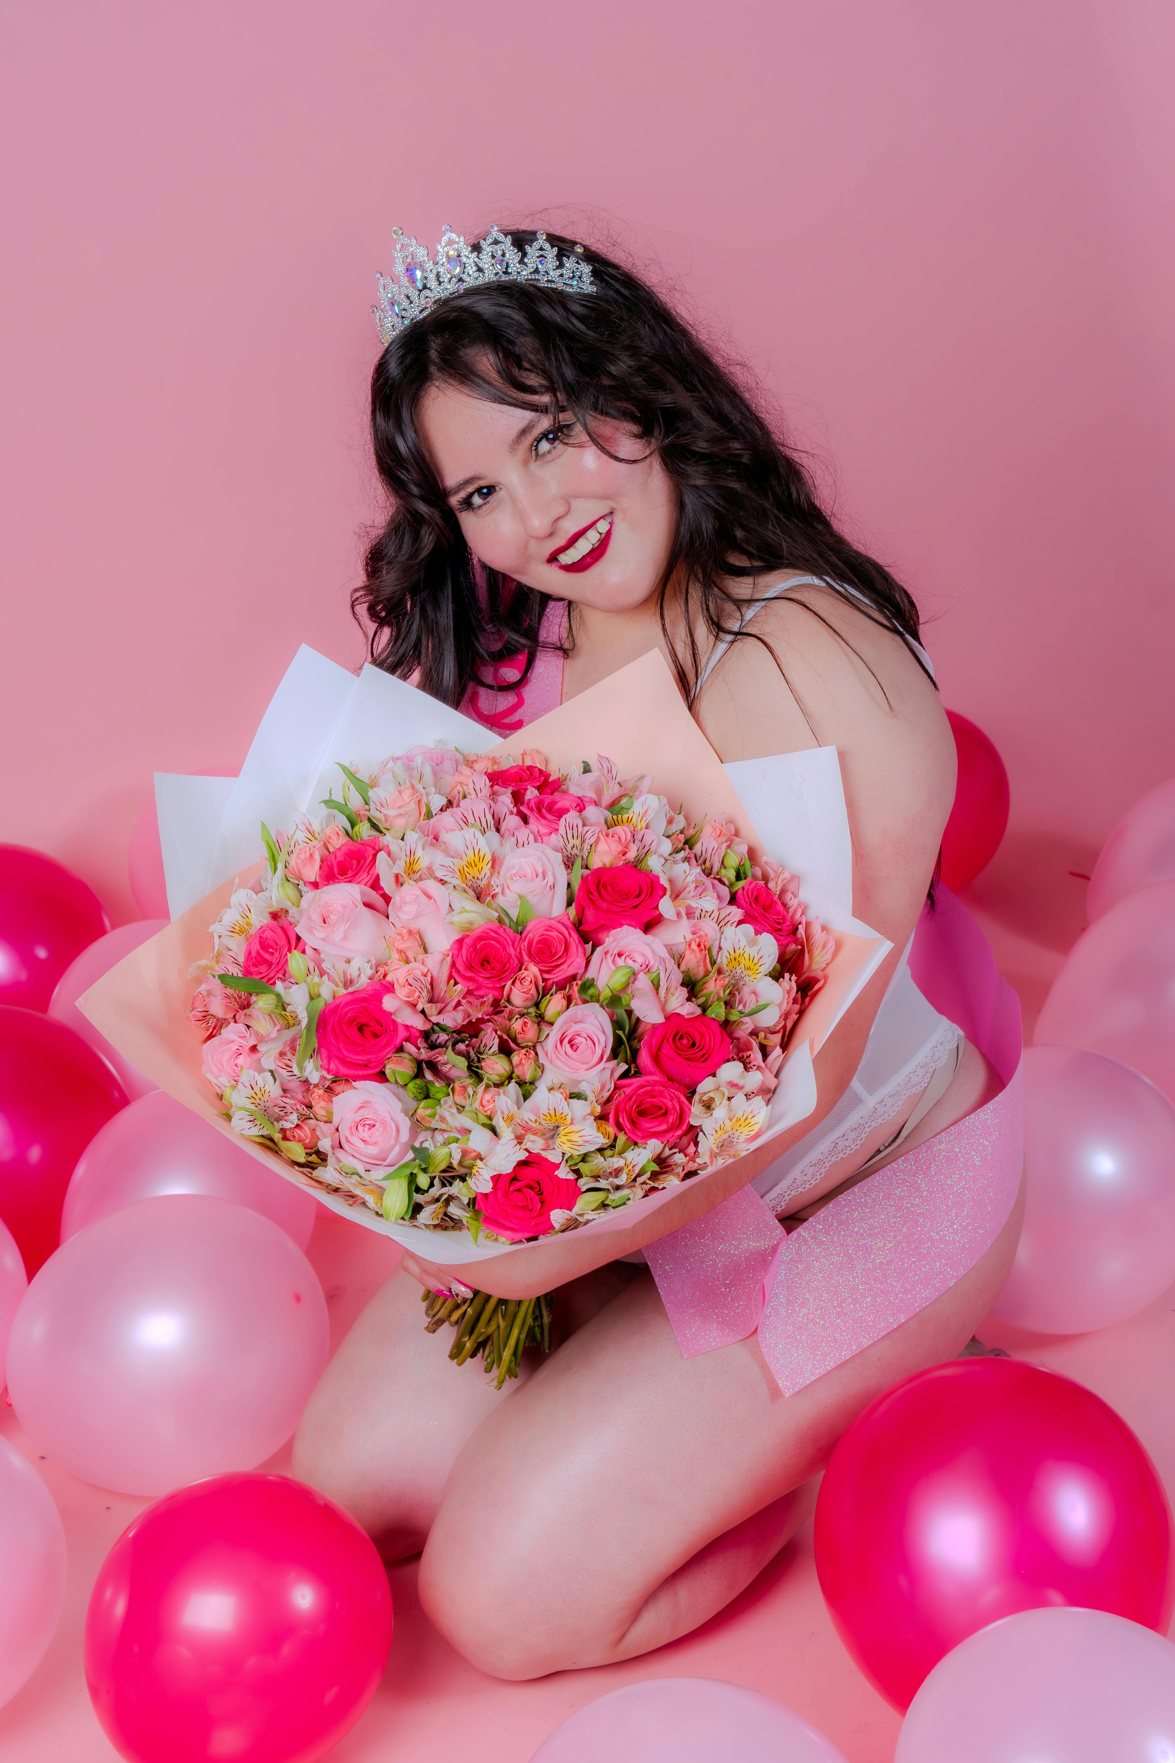
[[[1078,936],[1032,1040],[1133,1065],[1175,1102],[1175,882],[1120,899]]]

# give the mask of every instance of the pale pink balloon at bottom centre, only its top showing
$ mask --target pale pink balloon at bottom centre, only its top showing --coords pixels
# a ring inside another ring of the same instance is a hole
[[[768,1696],[706,1677],[655,1677],[588,1701],[530,1763],[844,1763],[814,1726]]]

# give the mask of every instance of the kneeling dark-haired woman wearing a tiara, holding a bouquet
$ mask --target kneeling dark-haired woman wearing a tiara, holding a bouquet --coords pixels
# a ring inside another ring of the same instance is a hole
[[[731,374],[599,252],[514,247],[534,277],[433,277],[432,303],[409,293],[386,319],[372,421],[393,510],[358,594],[372,656],[500,739],[655,647],[722,760],[837,748],[854,911],[893,954],[756,1183],[791,1225],[999,1090],[902,954],[951,807],[951,732],[909,594],[837,532]],[[423,1604],[481,1670],[632,1657],[759,1573],[872,1396],[958,1354],[1018,1211],[942,1296],[793,1396],[756,1336],[685,1359],[632,1264],[565,1287],[562,1343],[497,1395],[421,1329],[428,1264],[409,1255],[312,1398],[296,1472],[389,1558],[423,1550]]]

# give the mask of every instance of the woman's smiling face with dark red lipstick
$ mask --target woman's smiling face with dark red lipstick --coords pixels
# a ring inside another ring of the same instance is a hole
[[[643,441],[432,386],[419,430],[470,550],[486,568],[599,612],[632,612],[661,587],[676,492]]]

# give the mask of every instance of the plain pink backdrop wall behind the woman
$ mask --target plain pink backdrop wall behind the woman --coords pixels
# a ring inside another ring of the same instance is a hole
[[[361,658],[391,226],[544,213],[735,338],[914,587],[1011,772],[974,896],[1031,982],[1175,753],[1173,33],[1147,0],[11,9],[0,836],[132,917],[151,769],[234,769],[299,640]]]

